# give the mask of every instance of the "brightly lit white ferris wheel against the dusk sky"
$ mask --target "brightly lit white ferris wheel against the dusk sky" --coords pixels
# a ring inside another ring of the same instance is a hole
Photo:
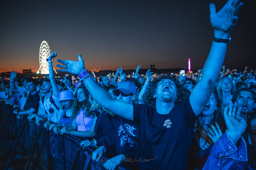
[[[39,69],[37,73],[41,74],[49,74],[49,65],[46,61],[46,58],[50,56],[50,52],[52,52],[52,46],[49,42],[43,41],[40,45],[39,50]],[[53,64],[53,61],[52,61]],[[56,70],[53,67],[54,72],[57,74]]]

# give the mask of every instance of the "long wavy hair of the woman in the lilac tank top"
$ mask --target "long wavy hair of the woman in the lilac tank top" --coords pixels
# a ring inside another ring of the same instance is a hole
[[[75,101],[74,101],[74,110],[72,113],[72,117],[76,118],[77,114],[79,113],[79,109],[82,108],[84,111],[84,116],[89,117],[92,115],[94,118],[95,114],[90,111],[91,103],[89,102],[89,92],[84,86],[80,86],[77,89],[83,89],[84,95],[86,96],[86,100],[84,102],[79,102],[77,99],[77,93],[75,94]],[[77,92],[76,89],[76,92]]]

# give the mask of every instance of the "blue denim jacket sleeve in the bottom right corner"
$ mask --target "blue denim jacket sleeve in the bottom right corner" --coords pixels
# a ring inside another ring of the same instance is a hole
[[[212,151],[204,164],[203,170],[208,169],[252,169],[247,163],[247,147],[241,137],[235,145],[227,131],[214,143]]]

